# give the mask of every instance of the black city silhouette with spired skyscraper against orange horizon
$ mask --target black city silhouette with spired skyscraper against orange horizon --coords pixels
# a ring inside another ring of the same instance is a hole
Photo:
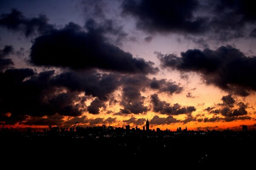
[[[78,122],[76,122],[77,124]],[[78,154],[73,161],[101,162],[129,160],[134,164],[151,157],[157,164],[189,164],[190,166],[208,166],[215,164],[229,165],[253,164],[255,157],[256,132],[242,126],[241,131],[233,130],[188,130],[187,127],[177,131],[151,130],[146,121],[146,130],[124,127],[98,126],[79,127],[73,125],[69,129],[57,124],[43,131],[18,131],[13,128],[0,130],[1,147],[5,158],[15,159],[14,154],[26,152],[26,158],[19,160],[45,159],[47,154]],[[228,147],[227,147],[228,146]],[[84,155],[83,155],[84,154]],[[158,165],[160,166],[160,165]]]

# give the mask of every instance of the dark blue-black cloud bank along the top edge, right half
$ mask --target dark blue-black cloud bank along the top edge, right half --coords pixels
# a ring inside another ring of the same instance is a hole
[[[150,33],[179,33],[207,48],[207,39],[228,41],[255,37],[252,0],[124,0],[122,14],[135,18],[136,27]],[[207,12],[205,12],[207,11]],[[253,30],[251,33],[247,30]]]

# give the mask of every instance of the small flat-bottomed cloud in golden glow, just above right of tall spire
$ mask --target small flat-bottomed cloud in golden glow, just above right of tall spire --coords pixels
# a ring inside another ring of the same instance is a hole
[[[151,95],[151,102],[153,104],[153,111],[161,114],[179,115],[196,111],[194,106],[182,107],[177,103],[171,106],[170,103],[161,101],[157,94]]]

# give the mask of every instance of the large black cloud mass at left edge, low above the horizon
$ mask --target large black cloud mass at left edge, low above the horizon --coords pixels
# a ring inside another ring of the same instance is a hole
[[[9,69],[0,74],[1,113],[12,115],[78,116],[85,111],[84,97],[52,83],[54,71],[36,74],[32,69]]]

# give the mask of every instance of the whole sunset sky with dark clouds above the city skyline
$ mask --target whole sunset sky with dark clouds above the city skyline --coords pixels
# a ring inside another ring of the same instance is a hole
[[[252,0],[1,0],[6,127],[256,127]]]

